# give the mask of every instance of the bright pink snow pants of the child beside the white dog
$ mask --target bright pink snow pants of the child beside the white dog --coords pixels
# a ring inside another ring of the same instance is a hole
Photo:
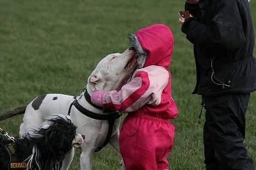
[[[126,170],[168,169],[174,126],[166,119],[129,113],[120,131],[120,152]]]

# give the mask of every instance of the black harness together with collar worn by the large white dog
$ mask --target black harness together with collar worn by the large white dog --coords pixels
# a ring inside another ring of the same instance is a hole
[[[84,91],[84,97],[85,97],[86,101],[88,103],[90,103],[93,107],[95,107],[97,109],[103,110],[104,113],[111,112],[111,114],[108,114],[108,115],[101,115],[101,114],[97,114],[97,113],[91,112],[91,111],[83,108],[82,105],[80,105],[78,103],[77,99],[74,99],[74,101],[69,106],[68,115],[70,115],[71,108],[74,105],[74,107],[77,108],[79,110],[79,112],[81,112],[82,114],[88,116],[89,118],[97,119],[97,120],[108,120],[108,134],[107,134],[107,137],[105,139],[105,142],[102,145],[100,145],[95,150],[95,152],[97,152],[97,151],[100,151],[102,148],[104,148],[104,146],[106,146],[109,143],[110,137],[112,136],[113,126],[114,126],[115,119],[120,118],[121,117],[121,113],[117,112],[116,110],[104,109],[103,107],[100,107],[100,106],[95,105],[94,103],[92,103],[91,102],[91,96],[89,95],[87,90]]]

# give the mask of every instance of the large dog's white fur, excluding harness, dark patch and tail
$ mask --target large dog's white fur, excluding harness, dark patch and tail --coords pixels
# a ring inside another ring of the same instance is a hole
[[[127,64],[128,63],[128,64]],[[115,53],[104,57],[96,66],[95,70],[88,78],[86,88],[88,93],[96,90],[109,91],[120,89],[121,85],[127,82],[137,64],[135,52],[125,50],[123,54]],[[53,100],[53,98],[56,98]],[[84,108],[97,114],[103,113],[102,110],[92,107],[84,97],[77,97],[78,102]],[[40,125],[47,116],[51,114],[67,114],[69,105],[74,101],[74,96],[62,94],[48,94],[43,99],[38,110],[32,107],[33,101],[27,105],[23,122],[20,125],[20,135],[25,134],[27,128]],[[82,153],[80,154],[81,169],[91,169],[92,154],[95,149],[104,143],[108,132],[107,120],[95,120],[80,113],[75,107],[71,109],[71,118],[77,126],[77,133],[85,134],[85,142],[81,145]],[[114,124],[112,137],[109,143],[115,150],[119,151],[119,124],[117,119]],[[62,164],[62,170],[68,169],[74,156],[74,149],[66,156]],[[123,167],[124,168],[124,167]]]

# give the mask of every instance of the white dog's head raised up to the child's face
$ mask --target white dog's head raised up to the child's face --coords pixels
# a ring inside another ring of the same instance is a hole
[[[137,64],[137,53],[131,48],[123,53],[109,54],[89,76],[87,89],[92,92],[118,90],[129,80]]]

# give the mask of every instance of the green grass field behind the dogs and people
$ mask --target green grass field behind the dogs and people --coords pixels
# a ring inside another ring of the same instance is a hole
[[[123,52],[127,34],[156,23],[174,34],[172,91],[179,108],[171,169],[203,169],[202,127],[198,119],[200,96],[195,85],[193,46],[178,24],[183,1],[14,1],[0,0],[0,113],[28,104],[45,93],[78,95],[97,62],[107,54]],[[256,28],[256,1],[251,1]],[[256,32],[256,30],[254,29]],[[254,51],[256,55],[256,49]],[[256,162],[256,93],[247,112],[246,146]],[[22,116],[1,121],[18,136]],[[94,155],[92,169],[118,169],[120,156],[108,145]],[[80,169],[79,151],[71,168]]]

